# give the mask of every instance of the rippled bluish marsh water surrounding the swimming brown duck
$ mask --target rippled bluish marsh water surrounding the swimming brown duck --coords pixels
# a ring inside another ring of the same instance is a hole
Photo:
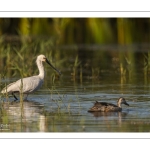
[[[9,130],[1,131],[149,132],[149,86],[140,82],[120,85],[117,81],[106,78],[71,85],[68,80],[56,83],[50,91],[41,89],[28,97],[23,109],[20,102],[5,107],[7,116],[2,116],[1,121],[9,125],[3,127]],[[119,97],[124,97],[130,105],[123,105],[122,112],[87,112],[96,100],[116,104]]]

